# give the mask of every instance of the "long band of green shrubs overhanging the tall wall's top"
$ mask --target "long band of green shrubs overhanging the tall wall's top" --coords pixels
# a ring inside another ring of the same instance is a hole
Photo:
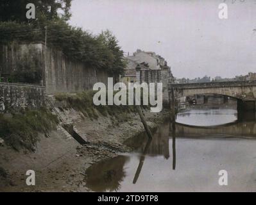
[[[46,28],[47,26],[47,28]],[[90,67],[105,69],[118,76],[125,63],[123,51],[110,31],[92,35],[89,31],[70,26],[65,20],[46,20],[37,24],[0,22],[0,44],[8,42],[44,42],[59,49],[71,60],[82,61]]]

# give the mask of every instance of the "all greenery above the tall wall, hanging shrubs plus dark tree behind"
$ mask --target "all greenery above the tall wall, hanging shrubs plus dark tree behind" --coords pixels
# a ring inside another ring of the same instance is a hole
[[[8,44],[14,40],[45,42],[47,39],[47,45],[61,50],[71,60],[82,61],[94,68],[106,69],[113,76],[123,74],[123,51],[118,45],[117,38],[110,31],[93,35],[90,31],[83,31],[68,24],[67,20],[71,17],[71,0],[45,0],[43,3],[38,0],[30,1],[35,3],[39,11],[37,18],[30,20],[24,19],[26,13],[15,13],[18,8],[26,8],[25,3],[26,0],[18,4],[15,2],[15,5],[8,1],[0,3],[2,10],[10,10],[6,14],[4,11],[0,12],[0,44]]]

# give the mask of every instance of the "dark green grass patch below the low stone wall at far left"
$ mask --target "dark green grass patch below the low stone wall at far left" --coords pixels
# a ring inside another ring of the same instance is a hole
[[[47,134],[51,129],[56,129],[57,123],[57,117],[45,108],[8,116],[0,114],[0,136],[17,151],[21,148],[33,151],[38,133]]]

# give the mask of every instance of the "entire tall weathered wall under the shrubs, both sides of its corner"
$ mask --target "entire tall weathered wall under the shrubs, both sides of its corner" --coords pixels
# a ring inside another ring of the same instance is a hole
[[[28,65],[22,65],[24,56],[26,58],[33,56],[32,61],[38,61],[36,69],[39,70],[37,72],[42,73],[42,77],[36,84],[46,86],[46,94],[82,92],[91,90],[98,82],[107,84],[106,70],[95,69],[79,61],[70,60],[62,51],[56,51],[50,47],[45,49],[43,43],[17,44],[13,42],[1,45],[0,78],[9,78],[13,73],[19,72],[21,67],[22,70],[26,70]]]

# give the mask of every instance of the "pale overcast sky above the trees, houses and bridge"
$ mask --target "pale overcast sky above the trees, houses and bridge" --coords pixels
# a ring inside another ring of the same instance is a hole
[[[223,1],[73,0],[70,22],[110,29],[126,53],[155,51],[177,78],[256,72],[256,0],[226,0],[228,19],[219,19]]]

